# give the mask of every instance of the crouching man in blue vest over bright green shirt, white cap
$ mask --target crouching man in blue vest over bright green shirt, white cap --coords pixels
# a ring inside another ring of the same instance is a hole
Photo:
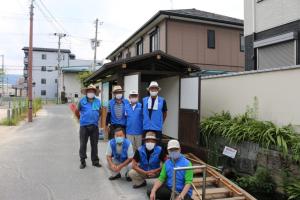
[[[170,140],[168,142],[169,159],[164,163],[159,178],[154,183],[152,189],[147,191],[150,200],[170,199],[172,194],[174,168],[192,166],[191,162],[187,160],[180,151],[180,144],[177,140]],[[192,199],[192,182],[193,170],[176,172],[176,200]]]

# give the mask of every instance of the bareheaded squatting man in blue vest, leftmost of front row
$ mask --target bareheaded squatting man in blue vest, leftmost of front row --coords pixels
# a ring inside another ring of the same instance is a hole
[[[125,175],[127,181],[131,181],[128,177],[129,163],[132,161],[133,149],[130,141],[125,138],[122,128],[116,128],[115,137],[108,142],[106,150],[106,159],[108,167],[111,170],[109,180],[121,178],[121,173]]]

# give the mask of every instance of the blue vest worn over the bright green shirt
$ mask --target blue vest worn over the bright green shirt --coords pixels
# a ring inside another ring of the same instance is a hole
[[[188,167],[190,161],[187,160],[183,155],[179,157],[176,163],[173,163],[170,159],[165,162],[166,172],[167,172],[167,187],[172,190],[173,185],[173,169],[176,167]],[[185,186],[185,171],[177,171],[176,172],[176,191],[181,192]],[[192,188],[189,189],[188,195],[192,196]]]

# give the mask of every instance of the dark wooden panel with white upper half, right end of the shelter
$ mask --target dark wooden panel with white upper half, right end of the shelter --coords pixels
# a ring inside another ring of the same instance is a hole
[[[180,79],[179,141],[196,147],[199,142],[200,77]]]

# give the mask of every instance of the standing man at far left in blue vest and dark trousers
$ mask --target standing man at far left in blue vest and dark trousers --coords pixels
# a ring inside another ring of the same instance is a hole
[[[98,92],[94,85],[89,85],[83,89],[82,92],[85,96],[79,101],[76,115],[80,118],[80,169],[86,167],[85,159],[86,146],[88,139],[91,143],[91,159],[93,166],[101,167],[98,157],[98,139],[99,139],[99,117],[101,112],[101,102],[95,98],[95,94]]]

